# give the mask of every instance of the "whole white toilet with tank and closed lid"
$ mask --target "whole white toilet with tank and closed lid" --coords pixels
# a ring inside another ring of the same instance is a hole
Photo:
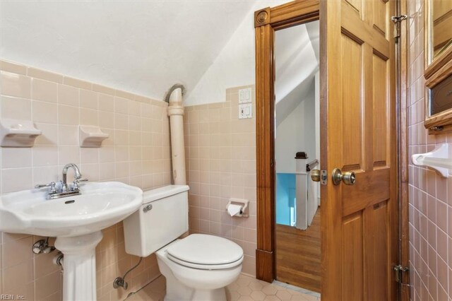
[[[169,185],[143,193],[143,205],[124,220],[126,252],[156,252],[167,280],[165,301],[225,301],[225,287],[242,271],[243,249],[223,237],[189,230],[189,187]]]

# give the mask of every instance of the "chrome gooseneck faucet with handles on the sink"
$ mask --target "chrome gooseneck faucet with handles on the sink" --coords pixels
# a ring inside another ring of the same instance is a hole
[[[74,180],[71,187],[69,187],[67,183],[69,168],[72,168],[74,171]],[[69,163],[64,165],[63,167],[63,180],[59,181],[59,184],[55,182],[51,182],[49,184],[38,184],[35,186],[35,188],[41,189],[44,187],[49,187],[47,199],[59,199],[64,196],[76,196],[78,194],[81,194],[78,184],[80,182],[88,181],[88,179],[82,179],[81,177],[82,175],[80,173],[80,170],[78,169],[78,166],[73,163]]]

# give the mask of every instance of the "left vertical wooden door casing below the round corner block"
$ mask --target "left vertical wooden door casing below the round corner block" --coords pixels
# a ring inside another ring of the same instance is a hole
[[[274,73],[273,28],[267,24],[256,28],[256,277],[267,282],[275,275]]]

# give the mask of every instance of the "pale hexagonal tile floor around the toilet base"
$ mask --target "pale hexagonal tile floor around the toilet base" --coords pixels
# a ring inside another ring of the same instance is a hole
[[[266,283],[240,275],[237,281],[226,288],[228,301],[309,301],[320,300],[320,294],[297,288],[293,285]],[[165,277],[160,276],[145,288],[129,295],[127,301],[160,301],[165,296]]]

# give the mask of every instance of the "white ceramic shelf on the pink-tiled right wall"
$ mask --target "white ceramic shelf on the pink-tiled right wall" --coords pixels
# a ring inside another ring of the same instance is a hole
[[[412,163],[416,166],[427,166],[448,177],[452,170],[452,148],[449,143],[443,143],[429,153],[417,153],[412,155]]]

